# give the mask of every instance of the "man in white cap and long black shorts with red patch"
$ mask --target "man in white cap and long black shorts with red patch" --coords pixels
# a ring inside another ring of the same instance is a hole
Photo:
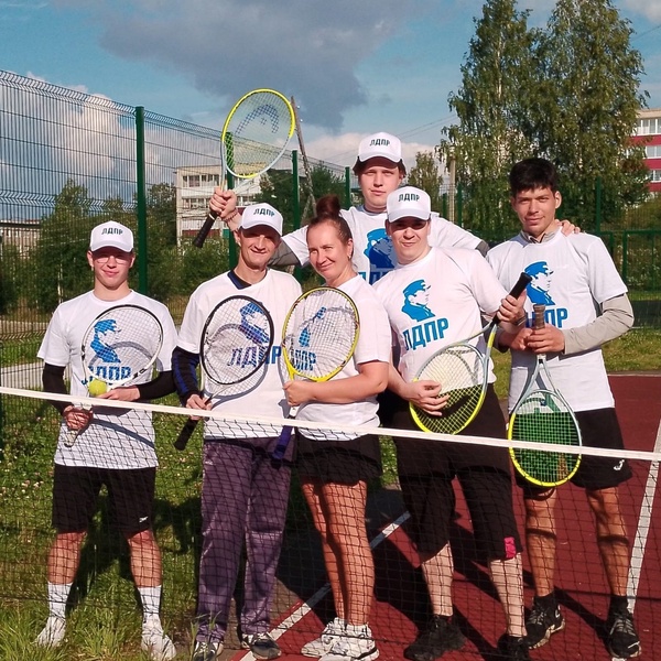
[[[440,249],[429,245],[430,197],[405,186],[388,196],[388,235],[398,266],[375,284],[400,351],[399,368],[390,370],[389,388],[399,398],[393,426],[418,429],[409,402],[430,414],[443,415],[446,397],[441,384],[415,381],[415,375],[438,349],[469,337],[483,326],[481,315],[498,314],[501,326],[516,330],[523,295],[508,296],[496,274],[475,250]],[[426,332],[432,327],[435,333]],[[442,333],[437,329],[443,328]],[[409,342],[420,338],[421,342]],[[476,339],[484,350],[484,338]],[[399,371],[398,371],[399,370]],[[489,376],[485,403],[462,432],[505,438],[506,427]],[[453,621],[453,557],[449,529],[454,517],[453,479],[462,486],[473,531],[488,562],[491,579],[505,610],[507,631],[498,641],[499,658],[525,661],[521,544],[512,508],[509,454],[506,447],[395,438],[398,474],[404,503],[411,513],[412,537],[422,562],[433,617],[429,627],[404,650],[412,661],[433,661],[465,641]]]

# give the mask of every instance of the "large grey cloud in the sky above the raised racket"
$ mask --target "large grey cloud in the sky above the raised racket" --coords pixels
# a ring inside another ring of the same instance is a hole
[[[86,4],[101,45],[192,79],[230,105],[273,87],[338,130],[367,102],[355,67],[399,28],[413,0],[100,0]],[[71,7],[75,0],[55,0]]]

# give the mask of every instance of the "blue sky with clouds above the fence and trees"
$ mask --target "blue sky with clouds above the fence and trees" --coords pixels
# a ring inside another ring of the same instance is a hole
[[[661,1],[615,0],[661,107]],[[552,0],[520,0],[543,25]],[[308,154],[350,164],[386,130],[407,160],[452,121],[479,0],[0,0],[0,68],[220,128],[242,94],[300,106]]]

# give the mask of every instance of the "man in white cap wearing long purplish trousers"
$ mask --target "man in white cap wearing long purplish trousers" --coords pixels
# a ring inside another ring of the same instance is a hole
[[[268,268],[281,234],[282,215],[272,206],[247,207],[236,232],[237,267],[203,283],[191,296],[173,355],[176,388],[186,407],[214,409],[229,415],[245,415],[249,411],[284,423],[289,407],[279,370],[279,340],[263,369],[256,378],[247,379],[239,391],[220,394],[201,391],[195,375],[205,319],[225,299],[238,294],[250,296],[269,311],[275,329],[284,325],[289,308],[301,294],[301,285],[288,273]],[[283,462],[272,460],[281,429],[281,424],[258,430],[238,424],[228,426],[215,420],[205,422],[204,539],[194,661],[212,661],[223,651],[243,543],[248,562],[240,615],[241,643],[258,659],[274,659],[281,653],[269,635],[293,452],[290,444]]]

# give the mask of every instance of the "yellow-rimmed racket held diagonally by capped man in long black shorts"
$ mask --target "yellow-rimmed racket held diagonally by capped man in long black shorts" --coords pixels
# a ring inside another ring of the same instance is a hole
[[[510,295],[518,297],[531,280],[528,273],[521,273]],[[436,381],[442,386],[438,397],[449,395],[441,415],[430,415],[412,402],[409,404],[411,415],[421,430],[457,434],[478,414],[487,394],[489,359],[499,323],[498,315],[495,315],[491,322],[470,337],[436,351],[419,370],[416,381]],[[483,354],[472,340],[485,333],[489,335]]]

